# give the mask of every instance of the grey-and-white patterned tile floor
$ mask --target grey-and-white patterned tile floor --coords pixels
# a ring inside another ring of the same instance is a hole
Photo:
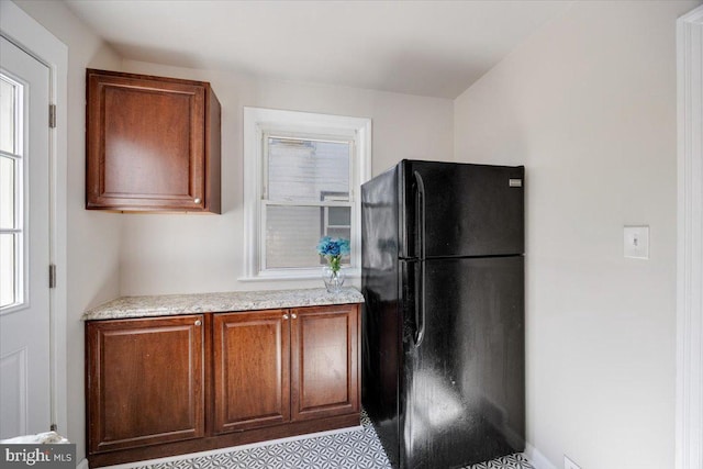
[[[252,446],[192,458],[134,464],[138,469],[390,469],[371,422],[361,414],[361,427],[317,437]],[[464,469],[533,469],[522,454]]]

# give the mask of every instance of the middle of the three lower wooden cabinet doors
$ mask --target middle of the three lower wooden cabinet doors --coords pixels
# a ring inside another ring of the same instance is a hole
[[[215,314],[215,432],[290,420],[290,320],[283,310]]]

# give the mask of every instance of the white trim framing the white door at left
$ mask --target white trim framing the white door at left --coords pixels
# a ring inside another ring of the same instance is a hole
[[[0,34],[49,68],[49,100],[56,104],[56,127],[49,130],[51,263],[56,265],[56,288],[51,290],[52,421],[59,433],[68,426],[66,380],[66,177],[68,48],[11,1],[0,2]],[[47,110],[48,121],[48,110]],[[48,276],[48,266],[47,276]]]

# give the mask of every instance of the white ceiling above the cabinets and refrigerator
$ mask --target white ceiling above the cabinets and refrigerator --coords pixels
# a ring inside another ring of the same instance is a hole
[[[453,99],[571,2],[66,3],[129,59]]]

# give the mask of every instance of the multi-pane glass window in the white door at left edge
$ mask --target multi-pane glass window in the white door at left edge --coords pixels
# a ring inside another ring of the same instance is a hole
[[[22,91],[0,74],[0,310],[24,302]]]

